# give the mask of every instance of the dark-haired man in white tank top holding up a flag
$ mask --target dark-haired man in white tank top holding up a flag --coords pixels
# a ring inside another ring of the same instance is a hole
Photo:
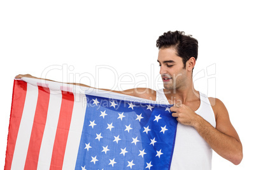
[[[184,32],[169,31],[159,37],[157,47],[164,89],[135,88],[113,92],[174,104],[170,110],[179,123],[171,169],[211,169],[212,149],[238,165],[243,149],[224,103],[194,89],[192,72],[197,60],[197,40]],[[21,77],[32,76],[17,75],[16,78]]]

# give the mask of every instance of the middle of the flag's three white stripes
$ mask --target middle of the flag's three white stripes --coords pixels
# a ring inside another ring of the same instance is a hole
[[[59,121],[61,101],[61,91],[50,90],[50,100],[45,124],[45,131],[43,133],[43,139],[38,158],[38,169],[50,169],[53,144],[55,140],[57,124]]]

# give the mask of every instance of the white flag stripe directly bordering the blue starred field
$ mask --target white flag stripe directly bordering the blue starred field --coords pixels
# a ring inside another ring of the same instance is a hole
[[[78,155],[78,149],[83,130],[83,122],[85,119],[86,106],[85,95],[81,93],[74,93],[73,114],[71,118],[62,169],[75,169],[76,158]]]

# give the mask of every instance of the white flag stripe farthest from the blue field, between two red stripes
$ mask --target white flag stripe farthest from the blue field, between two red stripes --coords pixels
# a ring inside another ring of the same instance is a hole
[[[20,128],[18,129],[11,169],[24,169],[37,101],[38,86],[33,86],[27,83],[24,110],[20,121]]]

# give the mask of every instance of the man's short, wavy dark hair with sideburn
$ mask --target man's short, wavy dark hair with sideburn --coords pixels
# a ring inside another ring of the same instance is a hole
[[[168,31],[164,32],[162,36],[157,39],[157,48],[169,48],[174,47],[177,51],[177,55],[182,58],[184,68],[186,62],[194,56],[197,60],[198,54],[198,41],[191,35],[185,36],[183,31]]]

